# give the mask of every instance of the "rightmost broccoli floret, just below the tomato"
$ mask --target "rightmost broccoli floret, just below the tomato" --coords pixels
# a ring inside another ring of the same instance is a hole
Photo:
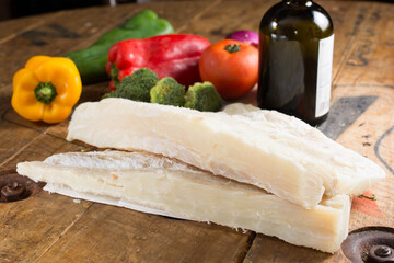
[[[201,112],[217,112],[222,107],[222,99],[211,82],[195,83],[185,94],[185,107]]]

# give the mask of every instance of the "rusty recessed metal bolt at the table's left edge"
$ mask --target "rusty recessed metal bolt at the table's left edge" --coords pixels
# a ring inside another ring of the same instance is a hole
[[[42,191],[43,183],[35,183],[14,171],[0,173],[0,203],[26,199]]]

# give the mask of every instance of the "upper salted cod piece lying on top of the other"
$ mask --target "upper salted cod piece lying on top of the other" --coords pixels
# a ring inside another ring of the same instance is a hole
[[[76,108],[67,139],[176,158],[306,208],[323,194],[358,194],[385,176],[369,159],[294,117],[258,114],[266,119],[105,99]]]

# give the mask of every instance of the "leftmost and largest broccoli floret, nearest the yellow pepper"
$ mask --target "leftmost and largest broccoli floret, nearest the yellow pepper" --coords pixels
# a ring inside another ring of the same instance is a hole
[[[140,68],[121,79],[116,90],[104,98],[124,98],[134,101],[150,102],[150,90],[159,81],[158,75],[149,68]]]

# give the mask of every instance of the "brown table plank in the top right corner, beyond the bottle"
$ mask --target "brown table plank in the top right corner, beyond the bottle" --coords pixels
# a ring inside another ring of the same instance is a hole
[[[393,13],[393,4],[371,3],[336,83],[394,87]]]

